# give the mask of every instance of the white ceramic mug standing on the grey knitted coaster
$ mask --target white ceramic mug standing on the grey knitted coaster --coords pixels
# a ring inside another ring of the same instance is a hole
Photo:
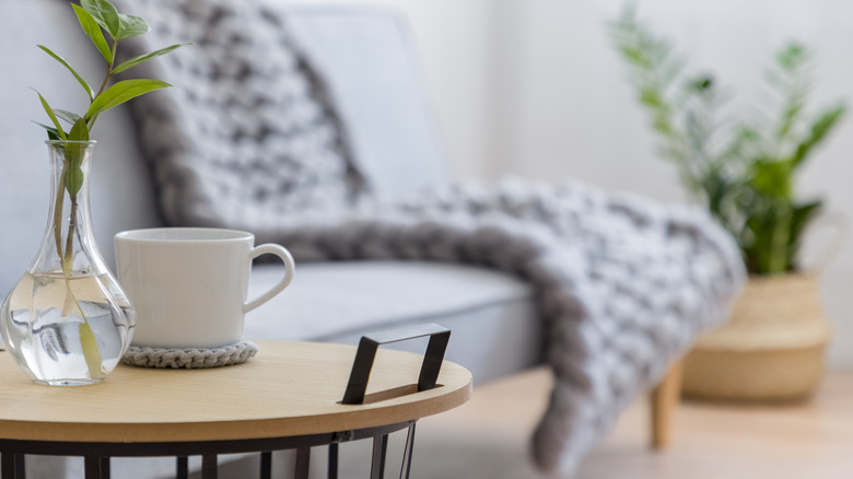
[[[243,316],[293,280],[293,257],[284,247],[255,247],[252,233],[201,227],[162,227],[118,233],[118,280],[137,312],[132,344],[217,348],[239,341]],[[252,260],[276,255],[281,281],[246,301]]]

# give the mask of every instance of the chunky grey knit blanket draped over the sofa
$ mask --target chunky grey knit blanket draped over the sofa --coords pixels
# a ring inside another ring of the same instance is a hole
[[[741,282],[737,249],[697,208],[523,180],[378,201],[323,73],[261,0],[127,7],[152,23],[157,46],[195,43],[155,66],[176,86],[133,104],[170,222],[249,230],[302,260],[460,261],[536,288],[556,378],[533,437],[545,470],[574,470],[725,316]]]

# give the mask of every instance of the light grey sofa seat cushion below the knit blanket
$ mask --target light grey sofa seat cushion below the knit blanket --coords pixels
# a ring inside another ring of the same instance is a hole
[[[362,335],[420,323],[451,328],[447,359],[488,381],[536,364],[541,324],[528,284],[500,271],[443,262],[346,261],[305,264],[293,283],[246,315],[249,339],[358,343]],[[282,274],[277,265],[253,269],[249,299]],[[423,353],[425,342],[395,349]]]

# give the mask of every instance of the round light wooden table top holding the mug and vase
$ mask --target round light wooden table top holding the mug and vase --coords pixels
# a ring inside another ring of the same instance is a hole
[[[0,439],[128,443],[322,434],[419,419],[471,395],[471,374],[447,361],[436,387],[417,393],[422,357],[379,349],[364,405],[341,405],[355,347],[257,343],[260,351],[244,364],[120,364],[92,386],[37,385],[0,352]]]

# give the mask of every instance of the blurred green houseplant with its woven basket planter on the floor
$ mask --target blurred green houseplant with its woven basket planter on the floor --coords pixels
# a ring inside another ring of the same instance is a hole
[[[822,209],[795,194],[797,172],[839,125],[842,103],[810,114],[811,54],[781,48],[767,74],[776,117],[720,121],[724,103],[710,74],[688,75],[670,42],[633,9],[610,33],[651,118],[659,154],[685,188],[737,242],[750,279],[724,327],[701,337],[685,361],[683,392],[725,399],[794,399],[822,372],[829,340],[815,274],[799,260],[803,234]]]

